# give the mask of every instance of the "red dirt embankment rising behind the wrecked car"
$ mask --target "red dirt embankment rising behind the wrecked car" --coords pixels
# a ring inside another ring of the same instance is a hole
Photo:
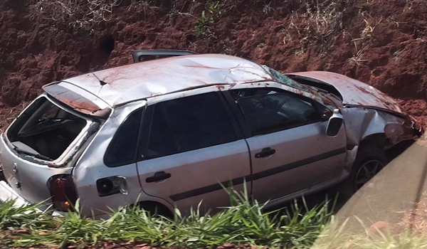
[[[123,0],[106,15],[109,20],[90,24],[93,31],[85,31],[88,23],[67,23],[90,16],[73,16],[73,9],[67,19],[49,2],[0,1],[1,128],[42,85],[132,63],[130,51],[151,48],[238,55],[285,73],[342,73],[395,97],[427,122],[424,0],[222,0],[218,6]],[[87,0],[79,2],[85,6]],[[202,11],[206,25],[197,20]],[[198,23],[204,36],[194,36]]]

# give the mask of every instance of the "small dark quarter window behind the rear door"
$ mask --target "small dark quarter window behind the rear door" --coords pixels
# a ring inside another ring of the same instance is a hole
[[[135,163],[141,120],[142,109],[139,109],[120,125],[105,152],[105,165],[114,167]]]

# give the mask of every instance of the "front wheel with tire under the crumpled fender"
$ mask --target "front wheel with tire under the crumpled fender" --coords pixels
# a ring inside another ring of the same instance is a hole
[[[386,166],[388,159],[379,147],[365,145],[357,152],[348,179],[342,183],[340,195],[350,198]]]

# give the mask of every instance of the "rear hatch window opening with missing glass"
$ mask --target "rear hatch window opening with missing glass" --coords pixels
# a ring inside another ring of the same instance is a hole
[[[7,134],[19,153],[53,161],[78,137],[87,121],[40,97],[21,114]]]

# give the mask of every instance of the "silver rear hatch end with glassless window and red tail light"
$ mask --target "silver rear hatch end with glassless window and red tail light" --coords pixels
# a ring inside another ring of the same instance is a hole
[[[7,184],[28,203],[51,199],[53,208],[67,211],[78,196],[75,162],[101,124],[102,120],[43,93],[1,135]]]

